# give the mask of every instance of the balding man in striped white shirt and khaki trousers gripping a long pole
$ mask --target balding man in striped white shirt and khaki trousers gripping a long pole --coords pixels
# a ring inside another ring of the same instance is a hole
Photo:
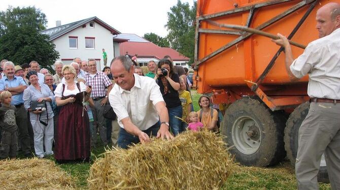
[[[332,189],[340,189],[340,4],[328,3],[316,14],[320,39],[293,59],[286,37],[273,40],[285,48],[285,64],[292,81],[309,75],[311,104],[298,137],[295,173],[298,189],[318,189],[317,174],[325,153]]]

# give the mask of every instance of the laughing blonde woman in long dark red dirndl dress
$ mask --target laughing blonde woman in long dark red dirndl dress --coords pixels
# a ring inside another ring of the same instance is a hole
[[[61,70],[65,83],[54,90],[57,106],[62,106],[58,117],[55,159],[88,162],[90,158],[90,128],[87,111],[83,106],[90,98],[91,88],[75,81],[76,70],[65,65]],[[82,93],[80,93],[82,92]]]

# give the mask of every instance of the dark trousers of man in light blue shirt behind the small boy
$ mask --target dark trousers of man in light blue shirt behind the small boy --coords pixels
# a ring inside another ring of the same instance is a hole
[[[27,111],[25,110],[24,106],[20,106],[16,108],[15,111],[15,119],[18,125],[18,139],[21,145],[21,150],[23,154],[30,153],[30,139],[28,135],[28,118],[27,118]]]

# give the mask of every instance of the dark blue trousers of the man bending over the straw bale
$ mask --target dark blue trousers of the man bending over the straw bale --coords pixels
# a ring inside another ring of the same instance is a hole
[[[159,130],[159,122],[152,125],[151,128],[143,131],[144,133],[148,134],[149,137],[157,136],[157,132]],[[132,144],[140,143],[140,139],[137,136],[131,135],[127,133],[123,128],[120,128],[119,135],[118,135],[118,147],[127,149],[128,146]]]

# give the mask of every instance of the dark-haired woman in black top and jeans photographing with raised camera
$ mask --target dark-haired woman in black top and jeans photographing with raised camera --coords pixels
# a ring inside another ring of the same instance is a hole
[[[158,62],[157,84],[166,103],[169,113],[169,125],[172,133],[176,136],[183,131],[182,121],[182,103],[177,90],[180,89],[180,78],[174,73],[173,63],[167,59],[161,59]],[[177,116],[178,118],[176,118]]]

